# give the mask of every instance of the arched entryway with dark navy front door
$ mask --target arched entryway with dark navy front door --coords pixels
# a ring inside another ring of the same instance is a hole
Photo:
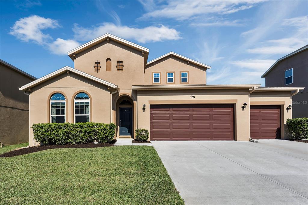
[[[117,125],[119,137],[134,136],[134,106],[129,96],[122,96],[117,100]]]

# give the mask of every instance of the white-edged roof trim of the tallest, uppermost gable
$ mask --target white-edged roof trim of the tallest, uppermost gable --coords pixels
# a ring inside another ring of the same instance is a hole
[[[67,55],[74,61],[74,57],[73,57],[74,54],[78,54],[78,53],[82,52],[83,50],[87,50],[88,48],[91,48],[92,46],[95,46],[96,44],[99,44],[99,43],[107,40],[107,38],[110,38],[110,39],[112,39],[115,42],[119,42],[121,44],[124,44],[125,46],[134,48],[136,50],[144,51],[146,53],[149,52],[148,48],[145,48],[145,47],[140,46],[138,44],[135,44],[133,42],[127,41],[127,40],[125,40],[123,38],[119,38],[117,36],[114,36],[112,34],[108,34],[107,33],[107,34],[99,36],[98,38],[95,38],[92,41],[89,41],[89,42],[87,42],[87,43],[85,43],[85,44],[83,44],[83,45],[81,45],[81,46],[79,46],[77,48],[74,48],[73,50],[68,51]]]

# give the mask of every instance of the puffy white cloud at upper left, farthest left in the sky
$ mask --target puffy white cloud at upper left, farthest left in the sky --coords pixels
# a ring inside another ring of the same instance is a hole
[[[46,40],[51,39],[49,34],[44,34],[44,29],[54,29],[59,27],[59,23],[51,18],[43,18],[32,15],[20,18],[10,28],[10,34],[22,41],[33,41],[37,44],[44,44]]]

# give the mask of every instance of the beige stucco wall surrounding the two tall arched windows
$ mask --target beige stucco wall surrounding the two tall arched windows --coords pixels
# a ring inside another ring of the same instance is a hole
[[[93,82],[77,74],[62,74],[46,81],[34,88],[30,94],[30,127],[34,123],[50,123],[50,97],[60,92],[66,97],[66,122],[74,123],[73,102],[75,94],[79,92],[89,94],[90,121],[99,123],[110,123],[110,92],[107,86]],[[34,146],[33,131],[29,133],[30,146]]]

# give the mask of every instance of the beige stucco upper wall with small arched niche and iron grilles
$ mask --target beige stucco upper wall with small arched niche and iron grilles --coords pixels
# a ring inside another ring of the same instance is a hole
[[[111,71],[106,71],[106,59],[111,59]],[[123,70],[117,70],[117,61],[123,61]],[[94,71],[94,62],[99,61],[101,68]],[[141,51],[110,40],[104,41],[88,50],[76,54],[74,68],[101,78],[115,85],[121,90],[131,90],[132,85],[143,85],[144,58]],[[131,92],[131,91],[128,91]]]

